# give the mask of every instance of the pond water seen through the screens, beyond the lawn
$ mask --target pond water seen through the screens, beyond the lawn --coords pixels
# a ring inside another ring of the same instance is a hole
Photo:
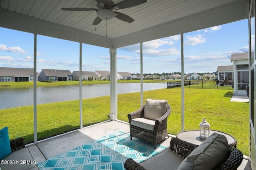
[[[143,83],[143,90],[167,88],[165,83]],[[37,87],[37,104],[79,100],[79,86]],[[140,83],[118,83],[117,93],[140,92]],[[82,98],[110,95],[110,84],[82,85]],[[33,88],[0,89],[0,109],[33,105]]]

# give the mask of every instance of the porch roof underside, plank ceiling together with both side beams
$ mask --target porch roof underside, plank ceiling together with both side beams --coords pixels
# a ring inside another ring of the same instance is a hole
[[[109,1],[109,0],[108,0]],[[122,0],[113,0],[114,3]],[[96,0],[2,0],[0,26],[107,48],[119,48],[248,18],[248,0],[147,0],[116,10],[132,17],[92,25]],[[96,29],[95,29],[96,28]],[[107,36],[106,36],[107,35]]]

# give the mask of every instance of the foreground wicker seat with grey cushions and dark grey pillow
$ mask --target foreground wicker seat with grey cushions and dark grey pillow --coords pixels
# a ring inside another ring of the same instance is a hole
[[[137,163],[129,158],[126,170],[236,170],[243,160],[240,150],[228,147],[224,135],[213,133],[201,145],[172,138],[170,149]]]

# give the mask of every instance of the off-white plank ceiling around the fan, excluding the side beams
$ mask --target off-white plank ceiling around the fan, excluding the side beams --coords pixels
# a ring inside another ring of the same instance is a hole
[[[122,0],[113,0],[115,3]],[[203,12],[236,0],[147,0],[132,8],[116,10],[135,21],[107,21],[107,36],[114,39],[182,17]],[[0,0],[0,8],[57,23],[78,30],[106,36],[106,21],[92,25],[95,11],[63,11],[61,8],[97,8],[95,0]]]

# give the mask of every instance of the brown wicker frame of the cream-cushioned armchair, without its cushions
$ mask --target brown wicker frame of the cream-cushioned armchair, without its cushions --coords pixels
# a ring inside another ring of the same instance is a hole
[[[148,130],[135,125],[132,125],[132,119],[135,118],[143,118],[144,117],[144,108],[145,105],[142,106],[137,111],[128,114],[128,119],[130,123],[130,137],[136,137],[142,140],[145,140],[154,145],[154,149],[156,149],[156,144],[162,141],[165,137],[168,137],[167,132],[167,118],[171,113],[171,107],[167,103],[166,111],[164,115],[155,120],[154,129]]]

